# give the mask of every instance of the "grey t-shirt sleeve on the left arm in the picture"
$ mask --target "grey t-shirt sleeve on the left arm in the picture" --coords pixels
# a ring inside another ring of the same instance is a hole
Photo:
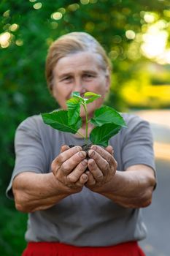
[[[15,167],[7,187],[6,195],[13,198],[12,181],[23,172],[46,173],[47,156],[42,145],[36,118],[23,121],[15,132]]]

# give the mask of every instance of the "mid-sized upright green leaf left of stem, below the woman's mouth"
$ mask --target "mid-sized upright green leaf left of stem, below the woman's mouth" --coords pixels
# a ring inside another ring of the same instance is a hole
[[[80,98],[74,97],[67,100],[66,105],[68,107],[69,124],[77,123],[77,120],[80,117],[80,104]]]

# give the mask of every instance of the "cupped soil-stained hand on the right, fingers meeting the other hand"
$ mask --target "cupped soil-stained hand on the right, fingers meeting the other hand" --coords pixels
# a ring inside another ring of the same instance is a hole
[[[101,148],[93,145],[88,151],[88,181],[85,186],[94,192],[102,189],[114,176],[117,170],[117,162],[113,157],[112,146]]]

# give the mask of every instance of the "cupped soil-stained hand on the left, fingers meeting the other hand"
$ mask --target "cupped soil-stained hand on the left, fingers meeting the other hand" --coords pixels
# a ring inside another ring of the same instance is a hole
[[[80,192],[88,181],[88,176],[84,173],[88,166],[85,157],[86,153],[80,146],[69,148],[63,145],[61,153],[52,162],[51,169],[55,178],[71,193]]]

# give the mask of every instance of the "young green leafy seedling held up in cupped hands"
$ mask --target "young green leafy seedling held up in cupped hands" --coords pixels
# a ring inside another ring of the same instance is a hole
[[[116,135],[122,127],[126,127],[123,117],[113,108],[101,106],[95,110],[93,118],[88,118],[87,104],[101,97],[93,92],[86,92],[84,97],[74,91],[72,98],[67,100],[67,110],[55,110],[50,113],[42,113],[42,119],[45,124],[49,124],[54,129],[63,132],[77,133],[85,139],[88,144],[88,123],[94,125],[90,132],[90,143],[107,147],[109,138]],[[78,130],[82,127],[82,118],[80,117],[80,107],[85,110],[85,136]]]

